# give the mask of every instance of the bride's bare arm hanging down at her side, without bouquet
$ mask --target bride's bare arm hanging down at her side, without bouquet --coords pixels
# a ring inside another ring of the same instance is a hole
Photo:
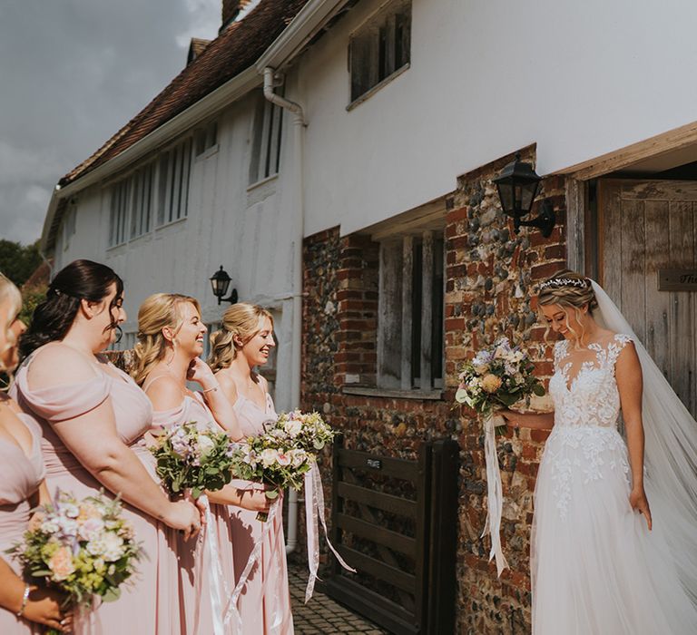
[[[629,502],[633,509],[643,513],[651,529],[651,510],[646,500],[646,493],[643,491],[642,366],[632,342],[626,344],[617,358],[614,376],[620,393],[629,463],[632,465],[632,493],[629,496]]]

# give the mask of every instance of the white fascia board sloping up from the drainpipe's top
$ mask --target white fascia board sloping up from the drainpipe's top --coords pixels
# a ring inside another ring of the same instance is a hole
[[[348,0],[309,0],[273,44],[257,61],[257,72],[270,66],[279,70],[308,44],[327,21],[348,4]]]

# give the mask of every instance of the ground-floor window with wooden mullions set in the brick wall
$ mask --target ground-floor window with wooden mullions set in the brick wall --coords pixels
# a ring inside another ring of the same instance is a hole
[[[439,230],[380,242],[378,387],[443,387],[444,262]]]

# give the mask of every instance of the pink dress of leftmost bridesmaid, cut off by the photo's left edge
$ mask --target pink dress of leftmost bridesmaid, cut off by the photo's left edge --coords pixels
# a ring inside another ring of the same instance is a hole
[[[0,557],[22,577],[18,562],[5,550],[22,540],[29,523],[29,497],[44,480],[44,461],[41,458],[41,428],[27,415],[18,415],[32,434],[32,451],[28,456],[21,447],[0,439]],[[27,635],[40,633],[39,624],[23,620],[15,613],[0,608],[0,633]]]

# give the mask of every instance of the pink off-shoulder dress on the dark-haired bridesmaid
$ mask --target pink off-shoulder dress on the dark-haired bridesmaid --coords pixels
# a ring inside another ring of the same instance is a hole
[[[12,393],[20,407],[34,415],[43,430],[42,452],[49,493],[53,496],[60,489],[83,498],[104,489],[56,435],[54,425],[89,412],[106,399],[113,406],[116,430],[123,443],[154,476],[154,457],[142,441],[142,435],[152,425],[152,405],[133,379],[110,364],[117,376],[95,368],[89,381],[31,390],[27,371],[34,355],[17,370]],[[90,430],[85,430],[84,434],[90,435]],[[123,635],[136,632],[133,628],[137,624],[138,635],[180,633],[174,532],[128,503],[123,503],[123,515],[133,524],[136,539],[144,552],[137,565],[138,574],[131,583],[123,586],[118,601],[103,602],[98,606],[91,616],[92,627],[78,623],[74,632],[95,630],[102,635]]]

